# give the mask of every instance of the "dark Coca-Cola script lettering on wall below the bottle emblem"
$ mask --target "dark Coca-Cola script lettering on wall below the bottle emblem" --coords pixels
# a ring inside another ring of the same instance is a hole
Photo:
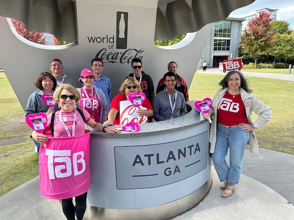
[[[131,63],[134,58],[143,60],[144,49],[127,49],[123,52],[108,52],[106,48],[98,51],[95,57],[99,57],[103,60],[103,63]]]

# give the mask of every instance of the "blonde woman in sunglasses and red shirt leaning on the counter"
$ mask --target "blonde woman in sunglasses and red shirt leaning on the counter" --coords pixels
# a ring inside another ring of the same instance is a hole
[[[127,77],[119,89],[119,94],[116,95],[111,104],[110,104],[110,110],[108,113],[108,120],[104,122],[104,125],[120,125],[120,102],[128,100],[128,95],[130,93],[139,93],[142,92],[141,86],[134,77]],[[139,117],[141,116],[147,116],[152,117],[153,116],[153,109],[149,102],[149,100],[146,98],[145,102],[142,104],[143,107],[145,107],[147,110],[138,109],[136,110]]]

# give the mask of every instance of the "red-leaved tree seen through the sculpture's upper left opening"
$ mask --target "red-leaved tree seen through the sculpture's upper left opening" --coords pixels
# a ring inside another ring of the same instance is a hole
[[[12,22],[15,30],[21,36],[23,36],[26,40],[29,40],[29,41],[37,43],[37,44],[46,44],[45,37],[43,36],[44,35],[43,33],[27,30],[24,22],[22,22],[20,20],[11,19],[11,22]]]

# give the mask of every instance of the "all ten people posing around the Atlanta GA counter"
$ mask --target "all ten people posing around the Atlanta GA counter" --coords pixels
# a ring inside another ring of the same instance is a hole
[[[101,59],[93,59],[91,69],[85,68],[81,71],[79,81],[83,83],[83,87],[77,89],[73,80],[63,74],[61,61],[54,59],[50,63],[52,74],[43,72],[37,77],[35,86],[39,90],[28,98],[25,113],[45,112],[48,118],[54,116],[54,134],[58,137],[83,133],[84,122],[98,131],[119,133],[119,130],[107,126],[121,124],[120,102],[128,100],[130,93],[144,92],[146,95],[146,101],[142,104],[144,108],[136,110],[139,117],[154,117],[156,121],[162,121],[187,113],[188,88],[184,79],[177,74],[175,62],[169,63],[168,72],[159,81],[155,96],[151,77],[142,71],[142,61],[134,58],[131,65],[133,73],[126,77],[119,88],[119,94],[110,102],[111,83],[108,77],[101,74]],[[213,98],[210,112],[203,116],[206,119],[212,118],[210,153],[220,181],[223,182],[221,189],[224,191],[221,195],[229,197],[241,177],[245,146],[249,141],[250,151],[258,153],[254,130],[270,120],[271,110],[251,94],[252,90],[248,88],[247,81],[239,70],[229,71],[221,80],[220,86],[221,90]],[[43,94],[53,94],[58,105],[49,108],[41,99]],[[76,108],[82,109],[84,122]],[[252,111],[259,116],[255,122],[251,118]],[[46,130],[49,129],[50,122]],[[31,132],[31,136],[38,145],[38,151],[40,144],[48,141],[47,135],[35,131]],[[228,149],[229,165],[225,160]],[[74,219],[75,215],[77,219],[82,219],[85,213],[86,194],[80,196],[81,198],[76,198],[75,208],[72,198],[62,199],[63,212],[69,220]]]

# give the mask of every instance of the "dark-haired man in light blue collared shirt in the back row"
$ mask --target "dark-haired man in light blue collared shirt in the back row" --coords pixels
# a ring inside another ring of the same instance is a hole
[[[93,70],[95,79],[93,86],[100,88],[106,98],[108,104],[108,111],[110,108],[111,83],[107,76],[102,75],[103,61],[100,58],[94,58],[91,61],[91,69]]]

